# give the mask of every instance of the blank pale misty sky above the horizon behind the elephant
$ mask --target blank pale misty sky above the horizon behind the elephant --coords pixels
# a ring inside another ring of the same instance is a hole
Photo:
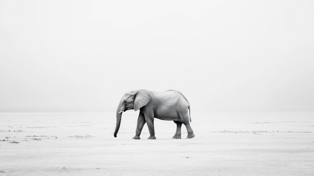
[[[313,111],[314,1],[0,1],[0,112]]]

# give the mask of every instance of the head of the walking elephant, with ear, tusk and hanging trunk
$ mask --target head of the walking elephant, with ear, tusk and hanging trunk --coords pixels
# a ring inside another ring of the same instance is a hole
[[[134,109],[134,111],[137,111],[141,107],[145,106],[149,101],[150,101],[150,94],[145,89],[126,92],[122,96],[120,103],[118,105],[118,108],[117,108],[117,112],[116,112],[117,122],[116,122],[113,136],[117,137],[117,133],[120,128],[122,112],[125,112],[126,110],[129,110],[129,109]]]

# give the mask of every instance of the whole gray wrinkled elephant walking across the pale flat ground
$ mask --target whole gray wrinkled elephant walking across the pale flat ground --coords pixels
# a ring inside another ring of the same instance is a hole
[[[178,91],[154,92],[140,89],[126,92],[117,108],[114,137],[117,136],[120,127],[122,112],[130,109],[135,111],[139,109],[136,133],[133,139],[140,139],[139,135],[145,123],[147,123],[150,133],[148,139],[156,139],[153,125],[154,117],[162,120],[173,120],[177,124],[177,131],[173,138],[181,138],[182,123],[187,127],[187,138],[195,136],[190,125],[191,117],[189,121],[190,104],[184,95]]]

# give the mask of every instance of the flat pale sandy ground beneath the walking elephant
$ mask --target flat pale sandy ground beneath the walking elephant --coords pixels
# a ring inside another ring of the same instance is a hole
[[[0,113],[0,175],[314,175],[314,112],[191,112],[195,138],[138,112]]]

